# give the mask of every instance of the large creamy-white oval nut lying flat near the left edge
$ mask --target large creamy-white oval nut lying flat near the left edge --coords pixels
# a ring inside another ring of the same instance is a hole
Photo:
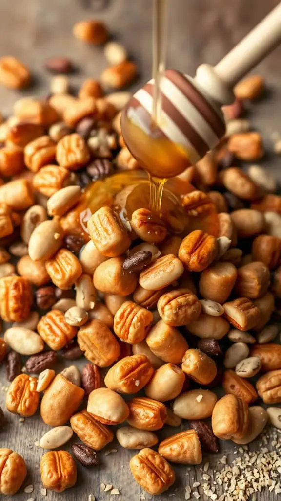
[[[7,345],[20,355],[34,355],[44,349],[43,340],[36,332],[25,327],[10,327],[5,331]]]

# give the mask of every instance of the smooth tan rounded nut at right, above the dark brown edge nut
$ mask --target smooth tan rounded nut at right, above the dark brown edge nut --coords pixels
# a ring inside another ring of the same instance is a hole
[[[265,218],[262,212],[258,212],[258,210],[233,210],[230,217],[236,228],[238,238],[248,238],[257,235],[264,229]]]

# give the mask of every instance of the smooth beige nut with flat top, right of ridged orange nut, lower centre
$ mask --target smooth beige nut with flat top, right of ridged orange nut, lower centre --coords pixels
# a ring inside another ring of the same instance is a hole
[[[148,398],[166,402],[177,397],[185,382],[185,375],[174,364],[164,364],[157,369],[144,388]]]

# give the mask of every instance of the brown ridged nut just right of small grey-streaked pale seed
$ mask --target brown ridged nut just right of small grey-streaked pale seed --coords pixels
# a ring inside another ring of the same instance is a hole
[[[260,318],[259,309],[247,298],[224,303],[223,308],[227,320],[240,331],[252,329]]]

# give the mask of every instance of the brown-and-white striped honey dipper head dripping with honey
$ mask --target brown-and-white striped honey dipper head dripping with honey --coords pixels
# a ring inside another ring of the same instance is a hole
[[[152,123],[153,80],[130,99],[121,116],[127,148],[153,176],[172,177],[195,164],[224,135],[220,108],[195,81],[174,70],[161,79],[161,111]]]

